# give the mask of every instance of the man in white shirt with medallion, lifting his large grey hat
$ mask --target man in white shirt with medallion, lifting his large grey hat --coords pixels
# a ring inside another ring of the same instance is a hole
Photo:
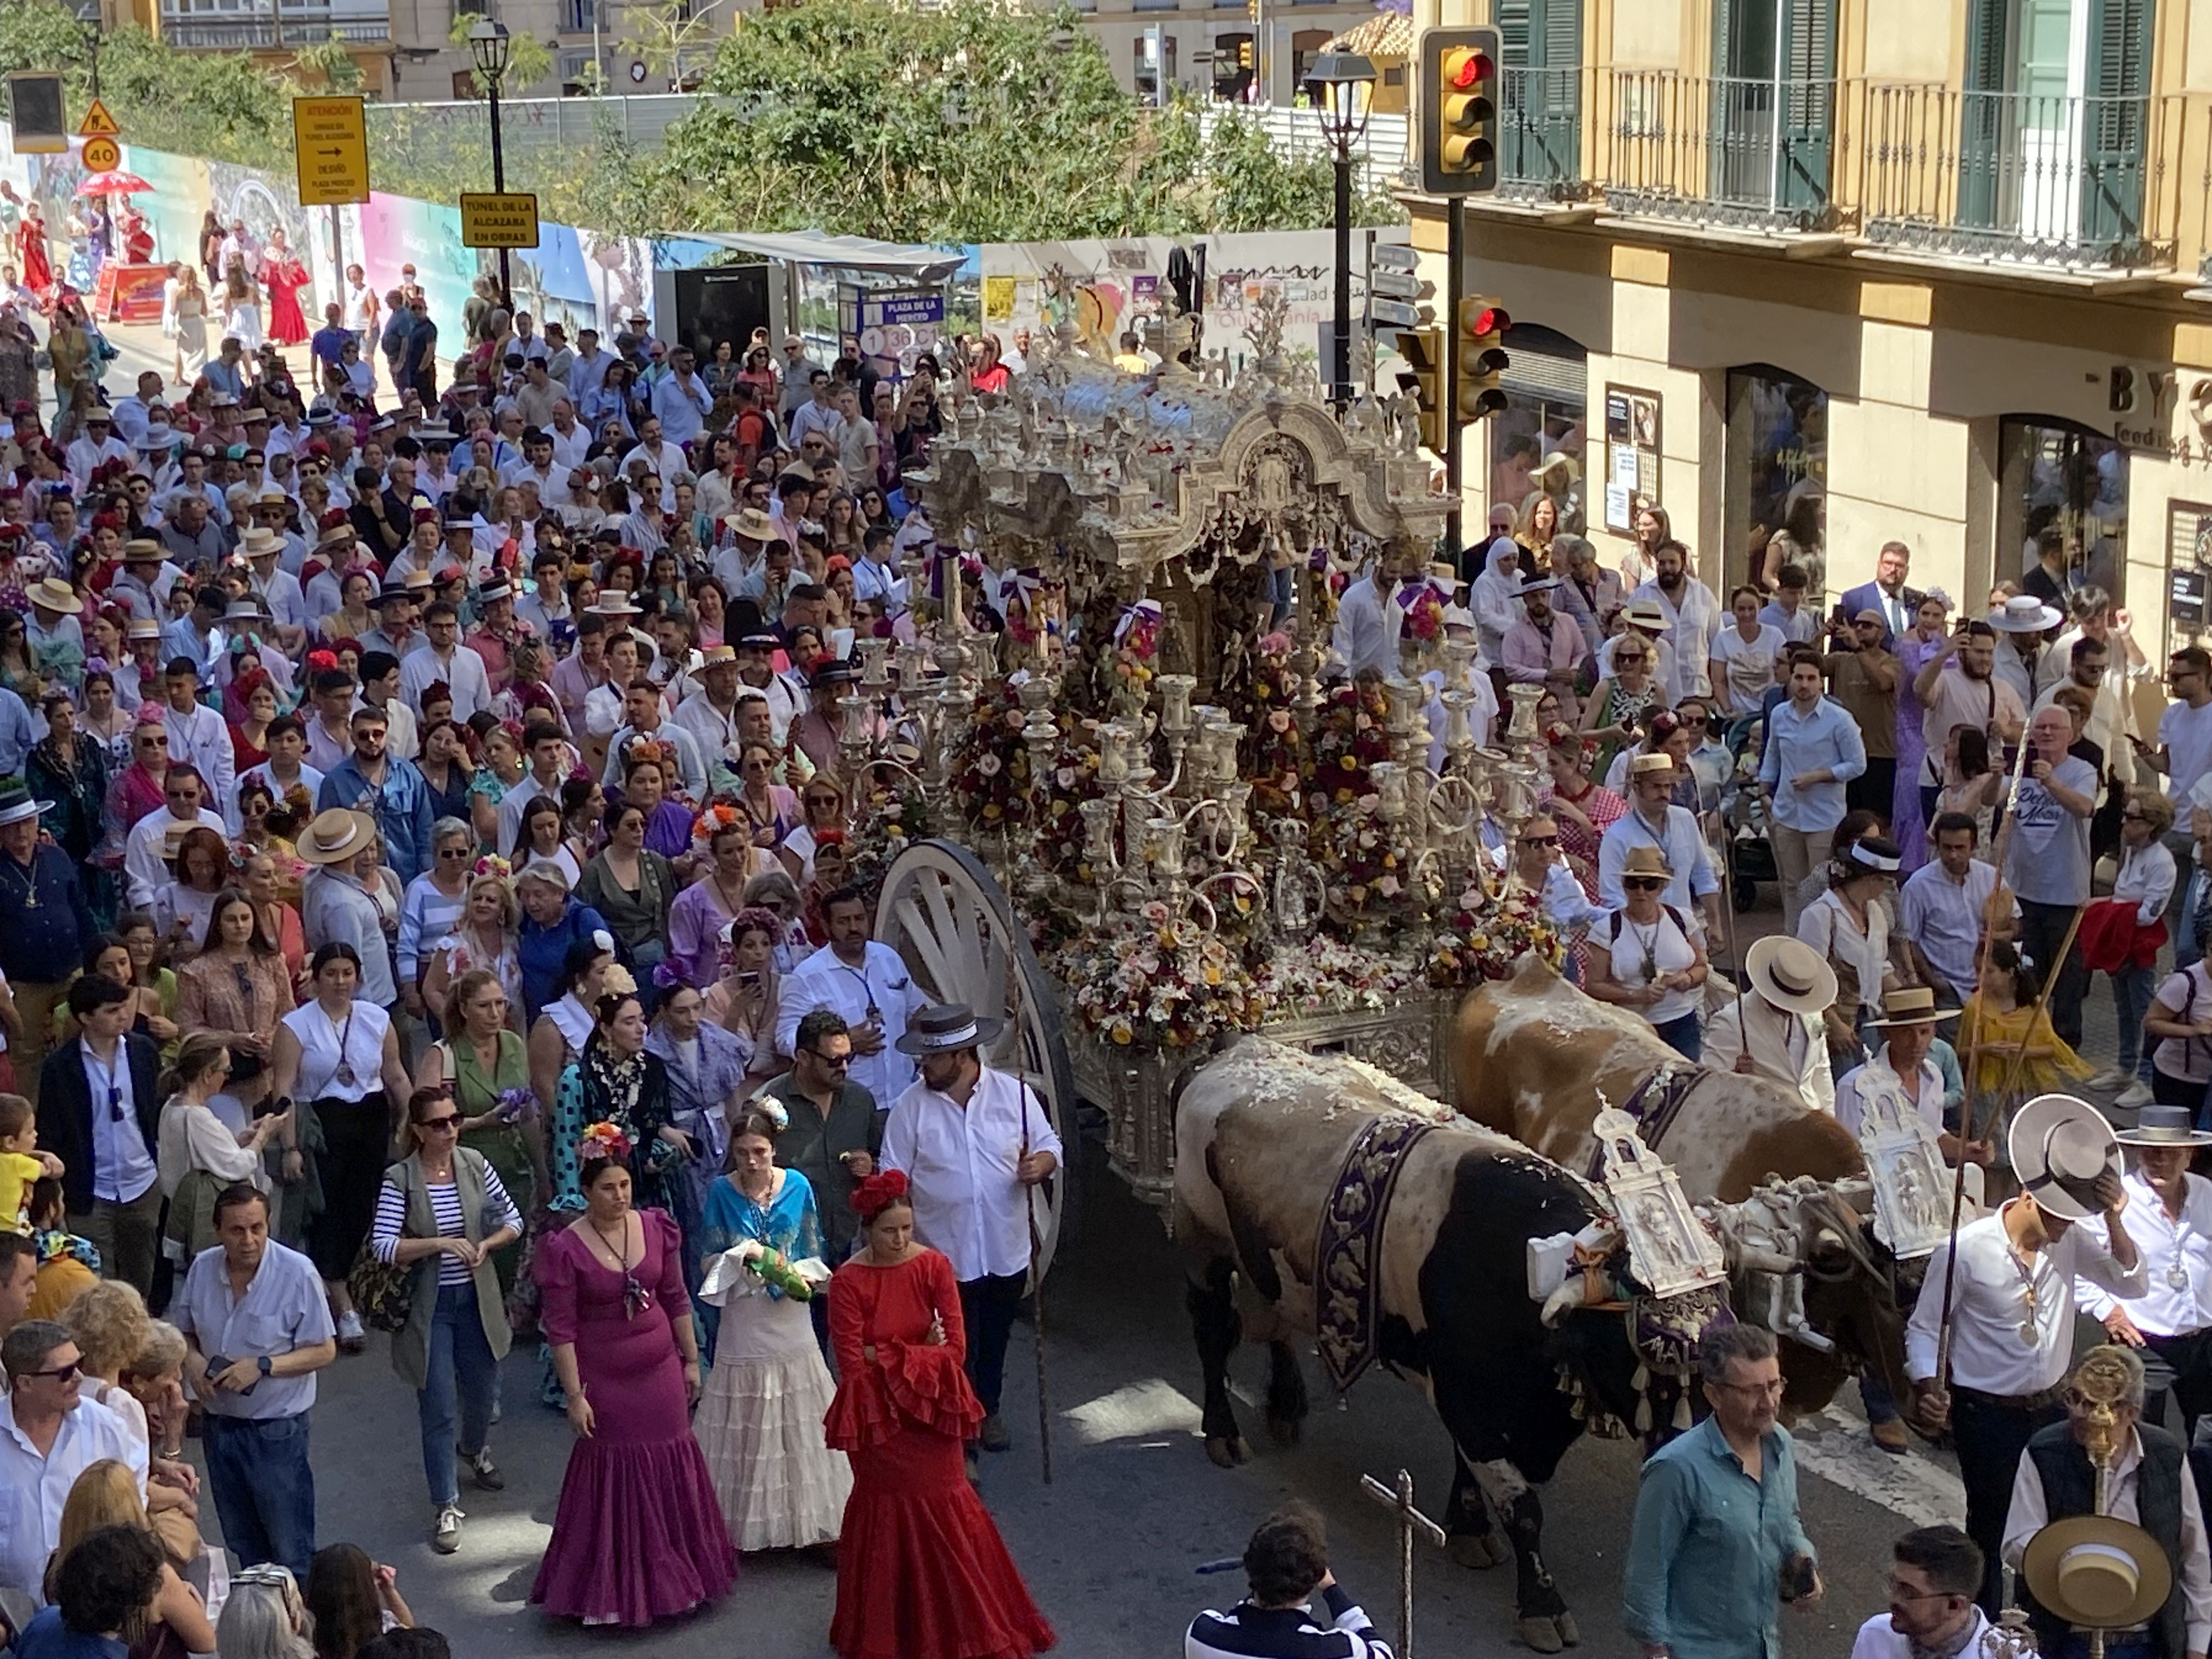
[[[1905,1332],[1911,1416],[1927,1431],[1949,1425],[1958,1447],[1966,1535],[1986,1557],[1975,1597],[1984,1613],[2004,1606],[1997,1551],[2020,1453],[2037,1429],[2064,1418],[2059,1385],[2073,1356],[2075,1283],[2093,1279],[2115,1296],[2148,1287],[2143,1256],[2121,1219],[2128,1188],[2119,1141],[2097,1108],[2073,1095],[2037,1095],[2013,1117],[2008,1148],[2020,1197],[1938,1245],[1922,1283],[1949,1285],[1951,1296],[1913,1303]],[[2101,1230],[2075,1225],[2099,1214]],[[1951,1376],[1938,1378],[1944,1301]]]

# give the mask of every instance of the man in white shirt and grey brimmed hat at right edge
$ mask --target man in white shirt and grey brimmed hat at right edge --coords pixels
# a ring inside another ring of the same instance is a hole
[[[2212,1146],[2212,1133],[2197,1128],[2188,1106],[2143,1106],[2117,1139],[2135,1152],[2128,1232],[2150,1285],[2135,1298],[2090,1287],[2081,1312],[2104,1321],[2115,1343],[2141,1349],[2150,1376],[2146,1416],[2163,1422],[2170,1391],[2188,1442],[2197,1420],[2212,1413],[2212,1181],[2190,1175],[2190,1159]]]

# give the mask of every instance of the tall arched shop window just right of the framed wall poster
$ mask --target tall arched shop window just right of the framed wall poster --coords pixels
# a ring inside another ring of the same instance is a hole
[[[1794,564],[1807,577],[1805,602],[1825,606],[1827,392],[1765,363],[1730,369],[1723,473],[1721,582],[1714,588],[1772,586],[1772,577]],[[1674,535],[1686,529],[1677,518]]]

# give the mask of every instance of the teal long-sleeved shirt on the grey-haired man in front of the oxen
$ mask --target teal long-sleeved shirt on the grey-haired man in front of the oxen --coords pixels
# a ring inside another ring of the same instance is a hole
[[[1681,1659],[1774,1659],[1783,1564],[1812,1555],[1796,1513],[1796,1451],[1767,1429],[1761,1480],[1705,1418],[1655,1451],[1621,1566],[1621,1624]]]

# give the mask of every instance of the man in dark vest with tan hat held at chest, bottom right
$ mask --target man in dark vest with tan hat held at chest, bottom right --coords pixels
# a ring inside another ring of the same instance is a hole
[[[2212,1559],[2203,1504],[2174,1436],[2143,1420],[2143,1363],[2093,1347],[2066,1389],[2066,1418],[2020,1455],[2004,1559],[2044,1659],[2088,1659],[2106,1630],[2115,1659],[2201,1659],[2212,1644]],[[2090,1442],[2112,1438],[2104,1480]],[[2099,1486],[2101,1502],[2099,1502]]]

